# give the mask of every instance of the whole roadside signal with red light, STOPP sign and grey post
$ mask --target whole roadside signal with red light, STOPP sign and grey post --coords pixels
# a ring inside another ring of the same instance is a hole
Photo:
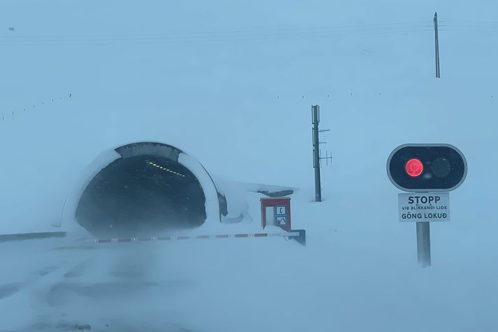
[[[430,222],[450,221],[450,194],[467,176],[467,160],[450,144],[404,144],[390,154],[390,181],[398,194],[400,222],[416,222],[417,257],[431,265]]]

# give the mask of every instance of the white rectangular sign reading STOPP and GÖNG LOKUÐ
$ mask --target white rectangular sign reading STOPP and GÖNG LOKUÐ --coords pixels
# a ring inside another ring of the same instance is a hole
[[[397,194],[400,222],[450,221],[449,193]]]

